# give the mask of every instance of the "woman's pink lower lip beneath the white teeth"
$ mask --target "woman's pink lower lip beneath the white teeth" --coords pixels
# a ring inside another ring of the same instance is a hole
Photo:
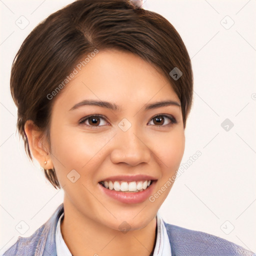
[[[104,186],[99,185],[99,189],[107,194],[108,196],[124,203],[140,203],[146,200],[152,193],[156,180],[154,180],[150,186],[148,186],[145,190],[140,192],[122,192],[122,191],[115,191],[105,188]]]

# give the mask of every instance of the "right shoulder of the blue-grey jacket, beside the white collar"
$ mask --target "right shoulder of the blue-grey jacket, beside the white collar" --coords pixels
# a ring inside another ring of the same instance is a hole
[[[218,236],[164,222],[172,256],[256,256],[252,251]]]

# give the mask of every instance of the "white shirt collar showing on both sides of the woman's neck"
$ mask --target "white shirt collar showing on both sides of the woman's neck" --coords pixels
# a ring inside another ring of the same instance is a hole
[[[72,256],[60,232],[60,221],[63,216],[64,216],[64,212],[60,215],[58,219],[56,234],[55,234],[57,256]],[[156,222],[157,222],[157,235],[156,235],[156,243],[154,247],[153,256],[171,256],[170,243],[169,243],[166,227],[158,211],[156,214]]]

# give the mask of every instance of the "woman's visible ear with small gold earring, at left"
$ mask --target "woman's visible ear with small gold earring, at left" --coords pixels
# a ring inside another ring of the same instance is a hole
[[[27,136],[29,149],[34,158],[44,169],[52,169],[53,164],[50,157],[50,148],[43,131],[39,129],[32,120],[27,120],[25,122],[24,130]]]

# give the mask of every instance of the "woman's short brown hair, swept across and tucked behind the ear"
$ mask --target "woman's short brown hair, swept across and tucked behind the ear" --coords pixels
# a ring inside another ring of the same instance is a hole
[[[32,120],[49,134],[51,107],[57,96],[49,100],[47,95],[95,48],[132,52],[160,71],[180,99],[185,127],[193,77],[189,55],[175,28],[160,14],[129,0],[77,0],[40,22],[12,63],[10,91],[17,106],[17,129],[31,160],[25,122]],[[182,71],[177,80],[169,74],[175,67]],[[43,170],[50,183],[60,188],[54,168]]]

